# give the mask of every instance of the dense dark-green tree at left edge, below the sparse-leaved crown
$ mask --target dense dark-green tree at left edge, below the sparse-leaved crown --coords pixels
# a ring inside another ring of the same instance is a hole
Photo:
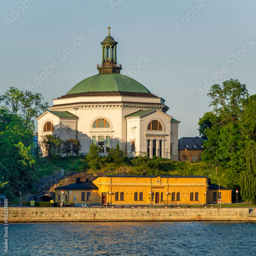
[[[21,189],[31,188],[31,169],[35,164],[31,145],[33,134],[24,128],[24,120],[15,116],[0,132],[0,159],[5,167],[1,177],[10,181],[8,193],[17,196]]]

